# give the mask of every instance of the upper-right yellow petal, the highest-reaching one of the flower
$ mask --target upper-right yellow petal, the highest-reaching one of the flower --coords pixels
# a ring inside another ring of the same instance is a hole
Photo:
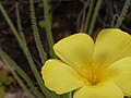
[[[112,62],[131,56],[131,36],[118,28],[99,33],[94,49],[96,64],[110,65]]]

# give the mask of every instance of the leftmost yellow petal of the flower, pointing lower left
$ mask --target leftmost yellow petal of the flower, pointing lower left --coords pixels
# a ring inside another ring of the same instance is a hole
[[[64,94],[83,86],[80,75],[60,60],[48,60],[41,69],[46,87],[57,94]]]

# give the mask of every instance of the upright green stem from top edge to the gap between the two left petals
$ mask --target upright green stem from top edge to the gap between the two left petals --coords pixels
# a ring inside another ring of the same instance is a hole
[[[50,27],[50,21],[49,21],[49,0],[43,0],[44,3],[44,13],[45,13],[45,27],[46,27],[46,33],[47,33],[47,39],[49,42],[49,49],[50,49],[50,56],[51,58],[56,58],[55,52],[53,52],[53,38],[52,38],[52,33],[51,33],[51,27]]]

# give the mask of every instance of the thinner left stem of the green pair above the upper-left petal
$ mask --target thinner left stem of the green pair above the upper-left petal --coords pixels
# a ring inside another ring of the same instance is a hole
[[[88,23],[90,23],[90,17],[91,17],[91,14],[92,14],[92,11],[93,11],[93,2],[94,0],[91,0],[91,3],[90,3],[90,10],[87,12],[87,15],[86,15],[86,20],[85,20],[85,24],[84,24],[84,33],[87,33],[87,27],[88,27]]]

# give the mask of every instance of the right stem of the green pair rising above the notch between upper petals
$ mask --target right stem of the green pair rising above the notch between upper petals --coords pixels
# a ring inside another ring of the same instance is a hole
[[[93,29],[94,29],[94,26],[95,26],[95,22],[96,22],[100,5],[102,5],[102,0],[97,0],[95,11],[93,13],[92,22],[91,22],[91,25],[90,25],[90,29],[87,32],[88,35],[92,35],[92,33],[93,33]]]

